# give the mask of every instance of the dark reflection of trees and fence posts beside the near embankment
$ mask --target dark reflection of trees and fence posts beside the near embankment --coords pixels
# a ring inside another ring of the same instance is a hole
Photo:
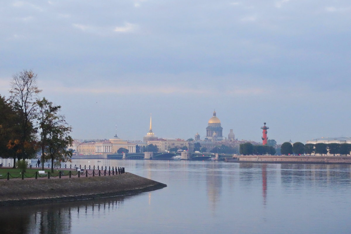
[[[0,234],[70,234],[72,215],[87,215],[118,209],[124,197],[61,202],[43,205],[1,207]]]

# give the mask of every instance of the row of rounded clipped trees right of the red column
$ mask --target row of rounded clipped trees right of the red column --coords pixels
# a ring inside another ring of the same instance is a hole
[[[309,154],[311,155],[312,153],[315,154],[320,154],[323,156],[323,154],[345,154],[347,156],[350,154],[351,151],[351,144],[347,143],[316,143],[316,144],[303,144],[301,142],[296,142],[293,145],[291,145],[289,142],[284,142],[281,147],[281,152],[282,155],[301,155],[301,154]]]

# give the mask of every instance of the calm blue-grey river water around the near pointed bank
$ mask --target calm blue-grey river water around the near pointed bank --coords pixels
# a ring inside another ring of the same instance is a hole
[[[100,160],[167,187],[2,207],[0,233],[351,233],[351,165]]]

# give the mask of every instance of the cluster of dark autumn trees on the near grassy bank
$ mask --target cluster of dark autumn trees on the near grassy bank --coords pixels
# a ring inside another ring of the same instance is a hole
[[[61,106],[54,105],[45,97],[39,98],[37,74],[23,70],[11,81],[10,97],[0,95],[0,156],[18,161],[32,159],[41,152],[44,162],[60,163],[72,157],[72,127],[65,116],[60,115]]]

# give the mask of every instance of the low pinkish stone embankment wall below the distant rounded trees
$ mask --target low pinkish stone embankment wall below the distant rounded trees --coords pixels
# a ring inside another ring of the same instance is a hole
[[[340,156],[237,156],[239,161],[235,162],[252,162],[252,163],[330,163],[330,164],[351,164],[351,157]]]

